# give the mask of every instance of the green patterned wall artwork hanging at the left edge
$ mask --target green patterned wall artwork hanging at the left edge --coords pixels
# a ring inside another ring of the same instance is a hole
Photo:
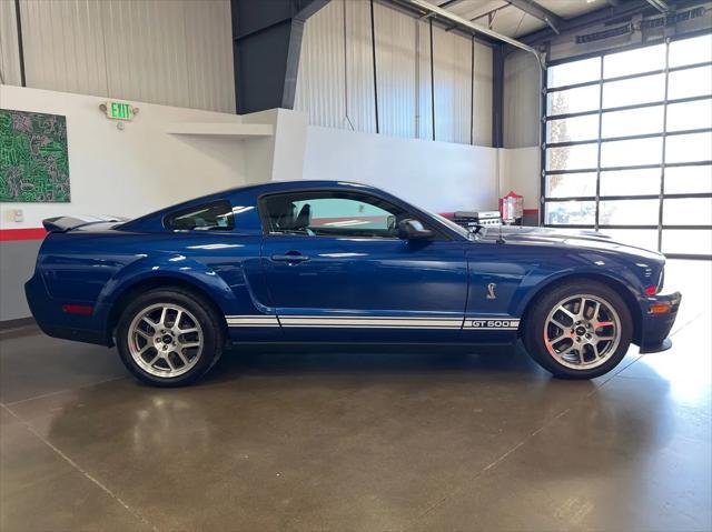
[[[0,202],[68,202],[67,118],[0,109]]]

